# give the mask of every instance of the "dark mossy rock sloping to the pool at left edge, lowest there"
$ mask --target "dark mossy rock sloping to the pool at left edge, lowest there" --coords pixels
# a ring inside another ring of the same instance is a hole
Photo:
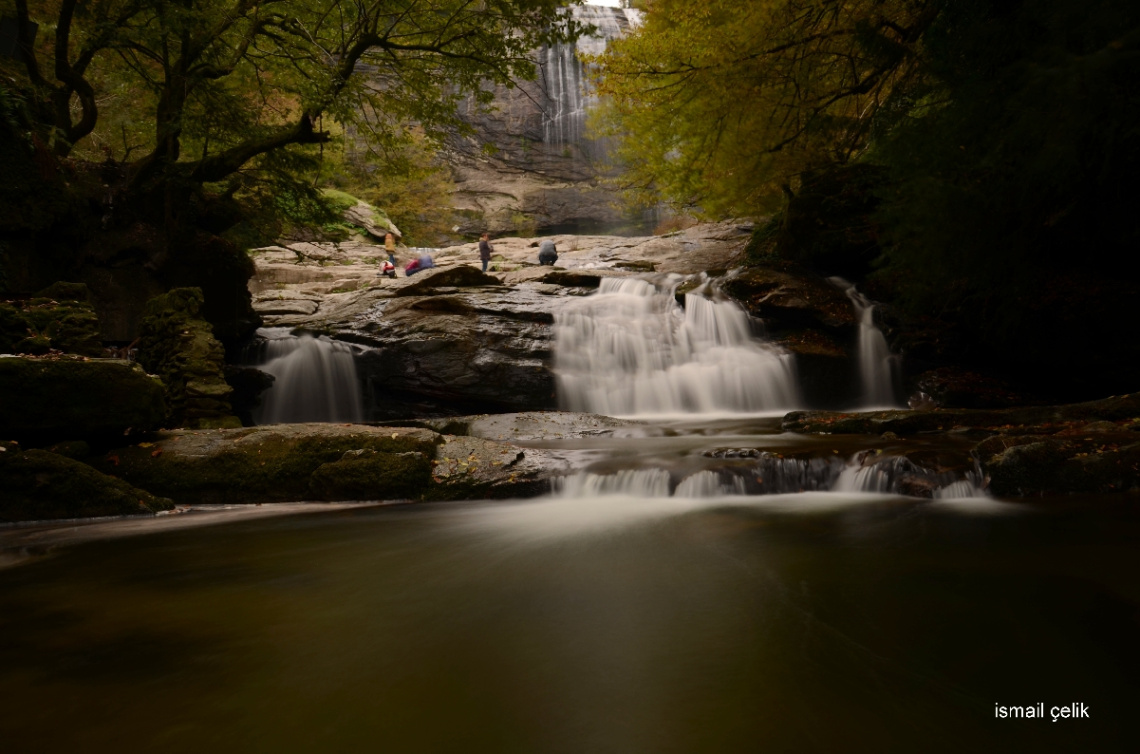
[[[155,513],[170,500],[47,451],[0,453],[0,521]]]

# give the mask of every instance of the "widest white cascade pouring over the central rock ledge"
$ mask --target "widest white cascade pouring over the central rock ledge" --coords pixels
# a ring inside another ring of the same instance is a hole
[[[611,416],[764,413],[798,405],[792,357],[752,335],[732,301],[676,282],[603,278],[554,317],[554,372],[569,411]]]

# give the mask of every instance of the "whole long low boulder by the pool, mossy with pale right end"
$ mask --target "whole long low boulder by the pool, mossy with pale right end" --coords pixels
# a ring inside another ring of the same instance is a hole
[[[89,462],[185,504],[518,497],[567,465],[508,443],[361,424],[164,431]]]

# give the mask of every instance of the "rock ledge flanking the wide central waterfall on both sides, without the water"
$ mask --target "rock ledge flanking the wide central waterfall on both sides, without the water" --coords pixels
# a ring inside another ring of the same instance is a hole
[[[751,227],[719,222],[667,236],[552,236],[560,254],[553,268],[537,265],[537,240],[499,238],[490,274],[479,270],[477,246],[465,244],[434,251],[435,268],[394,279],[377,276],[381,248],[293,244],[255,253],[251,291],[267,325],[365,347],[357,362],[370,421],[554,408],[556,317],[596,295],[602,281],[630,277],[656,281],[661,290],[675,286],[678,303],[716,279],[723,291],[717,295],[739,301],[751,326],[766,329],[776,348],[795,355],[807,405],[853,405],[858,323],[850,301],[840,287],[795,266],[726,275],[741,264]],[[415,253],[401,250],[399,261]]]

